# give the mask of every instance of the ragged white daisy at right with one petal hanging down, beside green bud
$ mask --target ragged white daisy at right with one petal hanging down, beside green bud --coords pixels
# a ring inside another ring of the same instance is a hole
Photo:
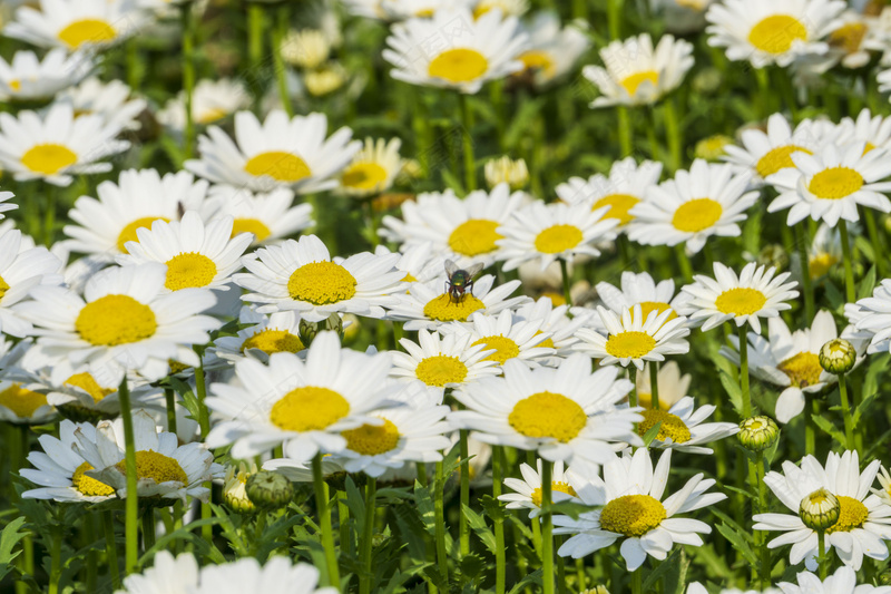
[[[846,335],[846,333],[843,333]],[[721,348],[721,354],[740,364],[740,338],[728,337],[735,350]],[[820,311],[810,329],[790,332],[782,318],[767,320],[767,338],[748,333],[748,369],[770,383],[784,387],[776,400],[776,420],[789,422],[804,410],[804,395],[812,397],[839,378],[820,366],[820,349],[839,338],[835,319],[829,311]],[[858,362],[863,357],[858,358]]]

